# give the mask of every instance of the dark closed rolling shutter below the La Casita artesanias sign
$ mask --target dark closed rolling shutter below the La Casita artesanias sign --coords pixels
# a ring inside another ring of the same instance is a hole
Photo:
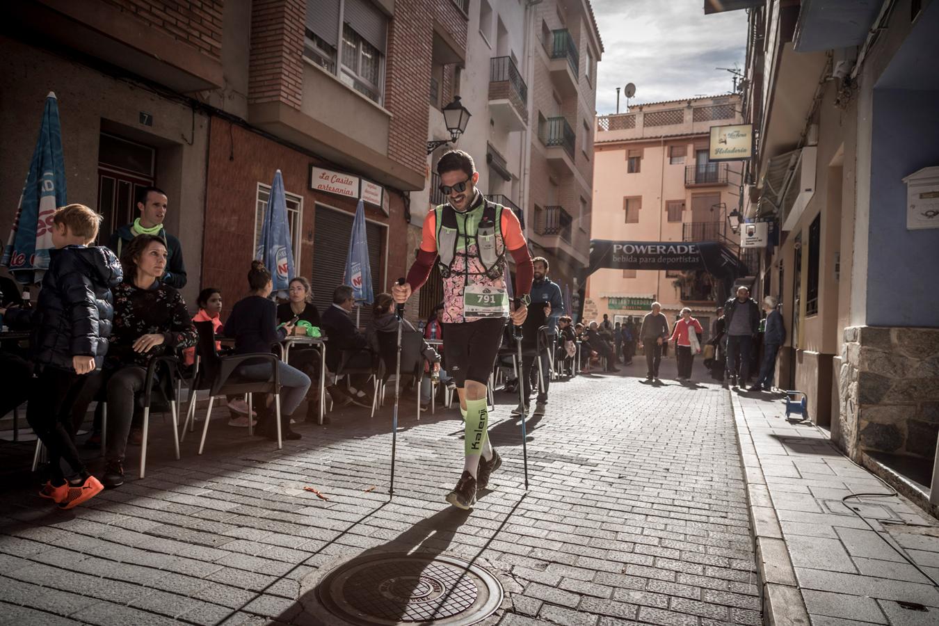
[[[332,290],[343,283],[346,271],[349,234],[355,216],[346,211],[337,211],[316,205],[316,220],[313,237],[313,267],[310,270],[310,286],[313,287],[313,302],[322,314],[332,305]],[[368,265],[372,268],[372,290],[377,296],[385,290],[381,265],[385,257],[385,227],[371,221],[365,222],[365,237],[368,239]],[[371,305],[362,306],[360,324],[364,327],[372,319]],[[355,321],[355,313],[352,313]]]

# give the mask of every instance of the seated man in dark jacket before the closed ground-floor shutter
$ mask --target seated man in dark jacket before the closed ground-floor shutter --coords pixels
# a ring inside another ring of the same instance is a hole
[[[326,365],[331,372],[339,367],[344,351],[353,351],[346,361],[347,368],[372,367],[372,352],[368,349],[368,340],[359,328],[349,318],[349,312],[355,306],[355,292],[347,284],[341,284],[332,292],[332,305],[320,316],[320,323],[330,340],[330,347],[326,351]],[[372,407],[372,399],[362,391],[368,376],[358,374],[350,376],[348,388],[352,402],[365,408]],[[340,389],[338,387],[331,389]]]

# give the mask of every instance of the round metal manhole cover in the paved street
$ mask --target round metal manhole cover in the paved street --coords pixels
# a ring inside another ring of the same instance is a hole
[[[348,624],[475,624],[502,602],[483,568],[454,557],[382,554],[328,573],[316,603]]]

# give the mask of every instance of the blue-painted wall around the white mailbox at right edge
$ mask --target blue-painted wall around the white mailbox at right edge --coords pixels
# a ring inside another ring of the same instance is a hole
[[[869,326],[939,327],[939,229],[906,230],[902,181],[933,165],[939,165],[939,91],[874,89]]]

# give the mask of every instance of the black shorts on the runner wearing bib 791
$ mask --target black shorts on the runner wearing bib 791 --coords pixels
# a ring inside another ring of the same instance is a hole
[[[502,344],[504,317],[488,317],[462,324],[441,324],[443,327],[443,359],[447,362],[456,387],[475,380],[489,384],[489,374],[496,364]]]

